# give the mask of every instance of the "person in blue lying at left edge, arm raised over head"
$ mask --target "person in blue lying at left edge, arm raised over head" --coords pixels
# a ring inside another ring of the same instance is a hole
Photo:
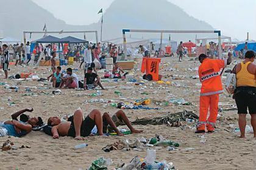
[[[41,126],[43,124],[41,117],[29,118],[28,115],[24,114],[24,112],[33,112],[33,110],[33,108],[20,110],[12,114],[12,120],[0,123],[0,137],[5,135],[22,137],[32,131],[32,127]],[[18,121],[19,116],[20,121]]]

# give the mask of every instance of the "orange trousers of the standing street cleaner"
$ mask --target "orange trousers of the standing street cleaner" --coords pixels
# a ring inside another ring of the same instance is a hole
[[[218,103],[219,103],[219,94],[200,97],[199,126],[200,125],[204,126],[206,124],[206,126],[212,127],[211,130],[213,129],[216,123],[217,115],[218,115]],[[209,109],[210,109],[210,115],[207,119],[207,114]],[[204,129],[204,127],[201,127],[201,129]]]

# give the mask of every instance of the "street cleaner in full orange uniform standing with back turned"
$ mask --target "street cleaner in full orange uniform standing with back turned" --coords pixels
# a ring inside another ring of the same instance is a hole
[[[199,55],[201,66],[198,69],[199,78],[202,83],[200,94],[200,112],[199,122],[197,124],[196,134],[204,133],[205,126],[207,132],[215,131],[215,123],[218,115],[219,94],[223,92],[221,83],[221,69],[224,69],[232,62],[232,55],[224,60],[213,60],[207,58],[207,55]],[[210,115],[207,119],[210,107]]]

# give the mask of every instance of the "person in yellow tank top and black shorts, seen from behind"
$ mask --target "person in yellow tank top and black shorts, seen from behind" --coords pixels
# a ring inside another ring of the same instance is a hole
[[[235,67],[236,89],[235,103],[238,109],[238,124],[240,128],[240,138],[245,138],[247,108],[251,115],[251,125],[256,138],[256,65],[255,53],[249,50],[245,54],[244,61]]]

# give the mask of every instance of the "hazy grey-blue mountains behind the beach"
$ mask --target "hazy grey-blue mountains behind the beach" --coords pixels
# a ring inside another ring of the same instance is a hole
[[[24,30],[41,31],[44,23],[47,29],[52,31],[98,30],[100,36],[101,20],[90,25],[69,25],[30,0],[0,0],[0,3],[0,30],[3,30],[4,36],[21,39]],[[193,18],[166,0],[116,0],[104,13],[102,39],[121,37],[122,29],[213,30],[213,27]],[[32,35],[32,38],[40,36]],[[82,37],[80,35],[80,38]],[[159,38],[160,34],[133,33],[132,37]],[[94,36],[88,34],[87,38],[93,39]],[[195,35],[172,34],[171,38],[188,41],[194,39]]]

